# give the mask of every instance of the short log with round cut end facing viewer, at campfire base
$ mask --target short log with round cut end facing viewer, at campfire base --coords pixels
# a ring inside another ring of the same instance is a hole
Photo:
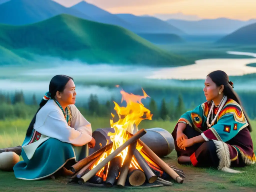
[[[142,170],[131,167],[129,168],[127,180],[131,186],[141,186],[146,181],[146,175]]]

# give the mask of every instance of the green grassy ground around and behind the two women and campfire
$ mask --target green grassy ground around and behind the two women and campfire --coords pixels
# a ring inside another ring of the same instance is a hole
[[[88,117],[93,130],[97,128],[109,127],[109,119]],[[9,120],[0,121],[0,148],[21,145],[30,120]],[[256,126],[256,121],[252,121],[252,127]],[[149,121],[141,122],[139,128],[149,129],[161,127],[172,132],[176,122],[168,121]],[[256,145],[256,132],[251,133],[254,146]],[[256,152],[256,150],[254,151]],[[173,186],[161,188],[147,188],[144,191],[255,191],[256,188],[256,165],[238,168],[241,174],[228,174],[210,168],[194,168],[191,166],[181,166],[176,163],[176,153],[173,151],[164,158],[168,164],[177,166],[184,170],[186,178],[183,184],[174,183]],[[0,171],[0,191],[141,191],[139,188],[99,188],[81,186],[79,184],[66,184],[65,179],[23,181],[14,177],[13,172]]]

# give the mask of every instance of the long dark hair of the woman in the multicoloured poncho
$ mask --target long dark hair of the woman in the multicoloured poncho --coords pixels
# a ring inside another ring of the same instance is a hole
[[[252,127],[251,127],[251,124],[249,123],[249,118],[248,118],[245,110],[243,109],[243,106],[238,97],[238,94],[233,89],[233,87],[234,87],[233,83],[231,81],[229,81],[229,77],[228,77],[227,73],[225,73],[224,71],[218,70],[218,71],[213,71],[213,72],[209,73],[207,76],[209,76],[211,78],[211,80],[217,86],[223,85],[224,86],[224,90],[223,90],[224,95],[226,95],[229,99],[233,99],[241,106],[244,116],[249,124],[247,126],[247,128],[250,132],[252,132]]]

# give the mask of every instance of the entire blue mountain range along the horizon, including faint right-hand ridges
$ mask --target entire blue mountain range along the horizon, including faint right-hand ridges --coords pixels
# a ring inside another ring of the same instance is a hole
[[[59,14],[118,25],[134,33],[177,35],[227,35],[241,27],[256,23],[256,19],[242,21],[228,18],[164,21],[150,15],[112,14],[85,1],[67,8],[52,0],[0,0],[0,23],[2,24],[32,24]]]

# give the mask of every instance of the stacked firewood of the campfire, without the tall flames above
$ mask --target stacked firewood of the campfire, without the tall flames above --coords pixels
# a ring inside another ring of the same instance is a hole
[[[182,170],[169,166],[161,158],[159,158],[147,145],[145,145],[140,137],[146,133],[144,129],[136,134],[130,134],[130,138],[101,162],[97,163],[104,152],[112,149],[113,143],[102,147],[90,156],[82,159],[73,166],[71,171],[74,175],[69,182],[78,182],[79,184],[87,184],[93,186],[142,186],[146,184],[155,184],[157,186],[172,185],[172,180],[177,183],[183,183],[185,175]],[[143,146],[140,151],[136,149],[137,142]],[[122,158],[119,154],[128,147],[128,153],[122,164]],[[144,158],[146,157],[146,158]],[[131,165],[132,159],[135,158],[140,169]],[[95,164],[97,165],[95,166]],[[94,166],[94,168],[92,168]],[[108,170],[106,178],[97,175],[97,173],[105,167]]]

